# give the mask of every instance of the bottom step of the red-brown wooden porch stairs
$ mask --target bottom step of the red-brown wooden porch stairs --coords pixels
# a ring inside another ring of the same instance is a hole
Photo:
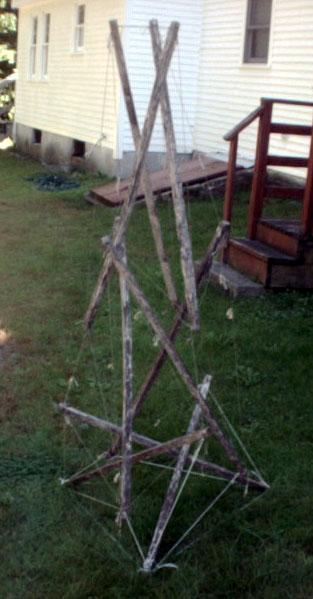
[[[258,240],[231,239],[227,248],[227,262],[237,270],[260,281],[266,287],[271,284],[273,265],[293,266],[297,263],[292,256],[280,252]]]

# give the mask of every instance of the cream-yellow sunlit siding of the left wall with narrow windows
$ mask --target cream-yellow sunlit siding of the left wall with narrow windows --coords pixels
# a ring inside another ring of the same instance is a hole
[[[84,0],[85,49],[73,52],[73,0],[53,0],[20,9],[16,121],[29,127],[116,150],[118,82],[108,50],[108,21],[124,20],[124,0]],[[40,79],[43,14],[51,13],[48,80]],[[31,19],[39,17],[37,73],[29,80]]]

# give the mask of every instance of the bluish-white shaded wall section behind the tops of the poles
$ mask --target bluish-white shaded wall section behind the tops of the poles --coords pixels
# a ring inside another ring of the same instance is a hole
[[[154,81],[154,63],[148,23],[158,19],[162,36],[171,21],[180,22],[179,44],[175,50],[168,82],[179,152],[193,149],[197,100],[202,0],[128,0],[124,41],[138,118],[143,124]],[[120,150],[134,149],[125,109],[121,113]],[[150,151],[164,151],[163,131],[158,118]]]

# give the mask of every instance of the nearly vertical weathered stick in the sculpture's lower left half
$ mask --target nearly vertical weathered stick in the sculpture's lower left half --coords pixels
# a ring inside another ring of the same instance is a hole
[[[125,246],[121,246],[123,264],[127,266]],[[129,516],[131,500],[131,455],[132,455],[132,403],[133,403],[133,342],[130,295],[127,281],[120,275],[123,336],[123,432],[121,468],[121,509],[118,523],[121,526]]]

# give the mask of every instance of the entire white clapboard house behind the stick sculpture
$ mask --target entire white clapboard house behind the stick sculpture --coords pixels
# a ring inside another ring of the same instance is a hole
[[[14,0],[19,8],[16,137],[47,162],[85,156],[129,173],[134,146],[120,93],[110,19],[123,34],[143,122],[154,78],[148,21],[181,24],[169,74],[178,151],[225,155],[223,135],[271,96],[313,99],[312,0]],[[312,109],[280,106],[280,120],[312,123]],[[308,140],[275,136],[275,150],[303,155]],[[239,155],[253,160],[255,125]],[[150,160],[164,156],[157,122]]]

